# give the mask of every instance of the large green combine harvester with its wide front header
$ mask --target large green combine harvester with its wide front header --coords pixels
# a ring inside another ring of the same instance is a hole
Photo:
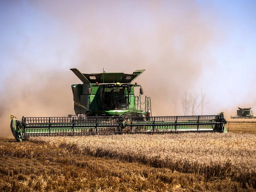
[[[142,99],[143,89],[134,82],[145,70],[132,74],[71,71],[82,81],[71,86],[75,115],[22,117],[21,121],[10,115],[11,131],[17,141],[31,136],[226,132],[223,113],[152,116],[150,97]]]

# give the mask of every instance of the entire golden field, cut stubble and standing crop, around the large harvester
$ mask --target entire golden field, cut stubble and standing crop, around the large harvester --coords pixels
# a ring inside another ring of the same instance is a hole
[[[232,133],[248,127],[239,125],[228,134],[2,138],[0,191],[254,191],[256,134]]]

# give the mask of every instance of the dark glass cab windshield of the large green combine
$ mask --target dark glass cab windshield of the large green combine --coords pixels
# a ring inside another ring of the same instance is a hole
[[[103,88],[102,90],[102,103],[103,109],[127,109],[128,101],[125,95],[127,88]]]

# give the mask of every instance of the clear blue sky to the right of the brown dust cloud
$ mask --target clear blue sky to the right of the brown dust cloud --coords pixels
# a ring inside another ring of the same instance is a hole
[[[200,3],[209,5],[204,1]],[[223,105],[251,103],[255,108],[256,1],[214,1],[213,5],[219,17],[216,30],[224,33],[220,46],[213,47],[211,52],[215,60],[214,72],[222,74],[215,82],[225,87],[218,86],[225,97]],[[208,68],[205,73],[209,73]]]

